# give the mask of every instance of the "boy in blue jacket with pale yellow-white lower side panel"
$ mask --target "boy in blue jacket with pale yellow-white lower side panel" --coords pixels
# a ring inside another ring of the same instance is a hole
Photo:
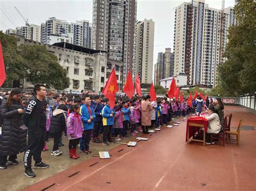
[[[104,108],[102,109],[102,123],[103,123],[103,145],[107,146],[109,143],[115,143],[111,138],[112,127],[114,124],[114,112],[113,109],[110,109],[109,99],[103,99],[106,102]]]

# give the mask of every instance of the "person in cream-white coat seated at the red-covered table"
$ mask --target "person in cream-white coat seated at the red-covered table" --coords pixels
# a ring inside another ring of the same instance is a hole
[[[210,116],[205,117],[208,119],[208,128],[207,128],[207,133],[206,133],[206,144],[211,144],[211,136],[210,133],[219,133],[221,130],[221,125],[220,125],[220,118],[218,115],[218,111],[214,108],[213,105],[210,105],[208,108],[210,112]],[[214,142],[212,143],[214,144]]]

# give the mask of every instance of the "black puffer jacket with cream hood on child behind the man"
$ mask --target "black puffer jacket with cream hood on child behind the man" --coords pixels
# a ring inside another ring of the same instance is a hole
[[[50,135],[62,133],[66,129],[66,111],[56,109],[53,111],[49,133]]]

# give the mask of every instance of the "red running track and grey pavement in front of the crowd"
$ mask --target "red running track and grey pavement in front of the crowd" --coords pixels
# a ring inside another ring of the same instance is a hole
[[[255,115],[240,107],[225,107],[225,115],[232,112],[232,126],[256,126]],[[203,146],[185,143],[185,124],[163,128],[136,147],[120,145],[110,150],[111,159],[98,157],[71,160],[49,157],[48,169],[37,169],[36,179],[26,178],[22,165],[6,169],[0,174],[1,189],[21,189],[40,179],[26,190],[255,190],[256,143],[255,130],[241,131],[241,145],[228,143]],[[111,145],[114,147],[116,144]],[[102,147],[103,148],[103,147]],[[106,147],[104,147],[104,150]],[[84,161],[82,161],[84,160]],[[21,161],[21,159],[19,159]],[[68,168],[68,169],[67,169]],[[63,169],[67,169],[63,171]],[[63,171],[63,172],[60,172]],[[60,173],[58,173],[60,172]],[[52,174],[55,174],[51,176]],[[34,182],[33,182],[34,181]]]

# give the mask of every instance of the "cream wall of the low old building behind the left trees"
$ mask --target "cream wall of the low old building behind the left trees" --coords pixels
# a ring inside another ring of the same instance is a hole
[[[118,66],[119,68],[119,70],[116,69],[118,84],[122,81],[119,77],[121,74],[120,68],[122,62],[107,60],[107,56],[104,53],[87,54],[84,52],[73,51],[68,48],[46,45],[36,41],[27,40],[22,36],[15,37],[20,39],[18,41],[18,45],[45,46],[49,52],[57,56],[59,65],[67,70],[67,75],[70,78],[70,87],[66,88],[66,91],[81,91],[82,89],[85,89],[99,93],[103,90],[109,77],[107,74],[110,74],[111,69],[114,66],[116,66],[116,68]],[[26,85],[31,86],[31,84],[27,83],[24,87],[26,87]]]

